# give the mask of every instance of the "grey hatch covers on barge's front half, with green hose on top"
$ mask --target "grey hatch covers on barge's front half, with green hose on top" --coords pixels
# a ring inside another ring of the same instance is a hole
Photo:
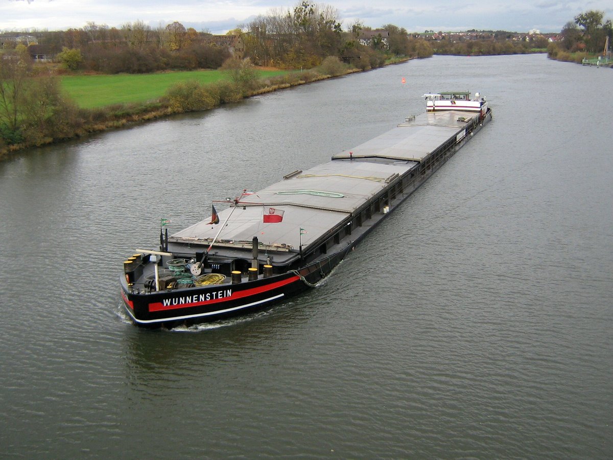
[[[300,228],[303,228],[308,233],[302,235],[302,245],[307,247],[383,190],[395,174],[402,175],[416,164],[329,161],[315,166],[300,175],[243,197],[218,240],[224,245],[245,247],[246,243],[251,243],[253,237],[257,236],[259,242],[266,245],[298,250]],[[319,196],[318,192],[332,196]],[[264,213],[268,212],[268,207],[282,210],[283,220],[279,223],[264,223]],[[207,218],[173,234],[169,241],[207,245],[215,238],[219,225],[224,224],[230,212],[232,208],[218,213],[219,224],[210,224]]]

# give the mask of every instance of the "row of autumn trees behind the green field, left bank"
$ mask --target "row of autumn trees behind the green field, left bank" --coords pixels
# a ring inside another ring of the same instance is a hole
[[[383,37],[375,36],[364,46],[359,36],[371,28],[356,22],[343,31],[337,9],[303,0],[293,9],[273,10],[239,25],[227,36],[241,37],[244,56],[254,65],[280,69],[310,69],[327,56],[337,56],[358,69],[381,66],[389,56],[432,56],[432,47],[405,29],[391,24],[383,29],[389,32],[387,45]],[[218,69],[230,57],[227,47],[210,33],[185,28],[178,21],[156,28],[143,21],[120,28],[89,22],[80,29],[29,34],[38,41],[28,47],[29,52],[55,56],[64,64],[64,71],[116,74]]]

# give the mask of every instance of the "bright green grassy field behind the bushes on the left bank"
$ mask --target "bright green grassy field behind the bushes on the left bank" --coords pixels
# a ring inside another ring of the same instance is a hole
[[[286,71],[258,71],[261,78]],[[196,80],[212,83],[226,79],[222,71],[165,72],[162,74],[66,75],[61,86],[79,106],[86,109],[112,104],[147,102],[160,98],[175,83]]]

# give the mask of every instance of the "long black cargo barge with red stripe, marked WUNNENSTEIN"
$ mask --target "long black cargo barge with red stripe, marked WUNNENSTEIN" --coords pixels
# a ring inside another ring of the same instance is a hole
[[[428,105],[327,163],[244,190],[219,213],[213,205],[210,219],[171,236],[162,220],[159,248],[124,261],[121,296],[132,322],[172,328],[246,315],[315,286],[491,120],[481,96],[424,97],[454,94],[460,110]]]

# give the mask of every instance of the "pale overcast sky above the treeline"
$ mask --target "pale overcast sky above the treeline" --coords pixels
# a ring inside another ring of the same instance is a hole
[[[143,21],[151,26],[179,21],[197,31],[223,34],[271,9],[289,9],[299,0],[0,0],[0,30],[82,28],[88,21],[119,27]],[[559,32],[583,11],[613,17],[611,0],[332,0],[345,29],[356,20],[378,28],[394,24],[409,32],[493,29]],[[376,6],[375,6],[376,5]]]

